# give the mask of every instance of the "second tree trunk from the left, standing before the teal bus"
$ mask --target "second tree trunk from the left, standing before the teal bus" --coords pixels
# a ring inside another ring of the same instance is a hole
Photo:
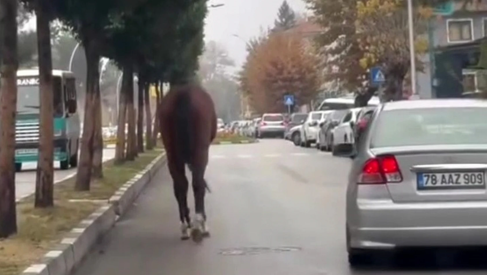
[[[40,110],[35,207],[50,207],[54,205],[53,62],[49,10],[47,10],[44,3],[45,1],[43,0],[36,1]]]

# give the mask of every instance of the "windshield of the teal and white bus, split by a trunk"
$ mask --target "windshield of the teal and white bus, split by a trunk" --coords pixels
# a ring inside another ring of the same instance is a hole
[[[64,115],[61,93],[61,79],[53,77],[54,82],[54,117],[62,117]],[[21,82],[18,82],[20,84]],[[23,82],[26,83],[26,82]],[[28,83],[31,84],[31,83]],[[17,113],[18,114],[38,114],[39,103],[39,86],[34,85],[18,85],[17,86]]]

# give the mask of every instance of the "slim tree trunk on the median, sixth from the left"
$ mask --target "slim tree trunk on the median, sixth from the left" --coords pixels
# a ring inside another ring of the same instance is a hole
[[[124,87],[126,98],[127,98],[127,152],[126,152],[126,160],[133,161],[135,160],[135,153],[137,152],[137,145],[136,145],[136,137],[135,137],[135,110],[133,106],[133,67],[131,64],[127,65],[127,70],[130,73],[127,73],[127,81],[128,85]],[[124,73],[125,77],[125,73]]]

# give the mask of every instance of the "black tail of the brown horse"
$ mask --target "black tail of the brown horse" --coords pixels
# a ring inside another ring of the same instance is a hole
[[[176,99],[177,144],[183,161],[191,164],[191,97],[186,89],[180,90]]]

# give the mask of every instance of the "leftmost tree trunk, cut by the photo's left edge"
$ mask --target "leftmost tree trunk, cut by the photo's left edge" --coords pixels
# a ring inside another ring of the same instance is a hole
[[[0,238],[17,233],[15,120],[17,110],[17,0],[0,0]]]

